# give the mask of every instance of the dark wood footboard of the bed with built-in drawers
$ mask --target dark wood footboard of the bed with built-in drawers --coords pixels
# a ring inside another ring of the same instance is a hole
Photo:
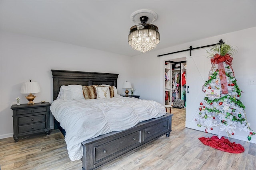
[[[138,123],[125,131],[111,132],[82,143],[83,170],[93,170],[172,131],[172,114]]]

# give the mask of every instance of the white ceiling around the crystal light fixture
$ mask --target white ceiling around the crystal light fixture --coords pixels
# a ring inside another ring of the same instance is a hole
[[[256,27],[256,0],[1,0],[0,29],[134,56],[130,16],[140,9],[158,14],[154,50]]]

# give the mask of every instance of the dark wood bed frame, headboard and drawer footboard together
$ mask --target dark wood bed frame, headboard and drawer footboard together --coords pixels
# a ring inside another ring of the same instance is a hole
[[[53,77],[53,100],[56,100],[62,85],[97,85],[108,84],[117,86],[118,74],[79,72],[66,70],[51,70]],[[66,132],[54,118],[54,129],[60,129],[65,136]],[[172,131],[172,114],[138,123],[136,126],[124,130],[111,132],[82,142],[83,157],[82,169],[92,170],[125,154],[139,149],[158,137],[170,136]]]

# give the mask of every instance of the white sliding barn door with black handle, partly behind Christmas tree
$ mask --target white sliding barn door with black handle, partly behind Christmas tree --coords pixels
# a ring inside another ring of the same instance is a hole
[[[199,113],[200,102],[204,99],[202,86],[208,79],[208,73],[212,64],[210,58],[206,57],[206,49],[192,51],[192,56],[187,57],[186,74],[186,127],[205,131],[205,127],[198,127],[195,123],[195,115]],[[218,135],[219,128],[214,127],[213,134]],[[225,132],[221,132],[225,136]]]

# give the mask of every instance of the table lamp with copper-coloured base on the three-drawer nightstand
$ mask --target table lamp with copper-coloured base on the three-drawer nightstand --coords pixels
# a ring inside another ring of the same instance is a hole
[[[40,86],[38,82],[24,82],[21,86],[20,93],[21,94],[29,94],[28,96],[25,96],[26,99],[28,99],[28,104],[34,104],[33,100],[36,98],[32,93],[39,93],[40,92]]]

